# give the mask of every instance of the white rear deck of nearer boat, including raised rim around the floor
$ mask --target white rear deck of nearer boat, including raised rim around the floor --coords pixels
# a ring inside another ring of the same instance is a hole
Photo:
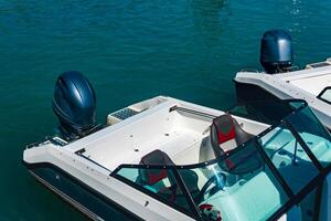
[[[205,113],[209,117],[171,110],[177,106]],[[145,155],[154,149],[167,152],[177,165],[197,164],[209,160],[206,156],[210,155],[202,149],[207,145],[205,140],[210,135],[212,116],[222,114],[224,112],[168,98],[122,120],[111,118],[115,124],[65,148],[78,151],[109,170],[121,164],[139,164]],[[249,119],[236,119],[250,134],[258,134],[267,127]]]

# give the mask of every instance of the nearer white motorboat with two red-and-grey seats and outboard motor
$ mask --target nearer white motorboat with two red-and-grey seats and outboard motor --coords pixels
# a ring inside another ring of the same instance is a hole
[[[331,137],[305,101],[274,125],[168,96],[98,125],[95,106],[86,77],[64,73],[58,131],[23,152],[93,220],[331,220]]]

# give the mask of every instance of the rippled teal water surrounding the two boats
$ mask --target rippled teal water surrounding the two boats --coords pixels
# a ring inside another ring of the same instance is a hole
[[[57,124],[60,73],[90,80],[99,122],[159,94],[226,108],[268,29],[291,33],[299,65],[331,56],[330,11],[330,0],[0,0],[0,220],[86,219],[21,165]]]

